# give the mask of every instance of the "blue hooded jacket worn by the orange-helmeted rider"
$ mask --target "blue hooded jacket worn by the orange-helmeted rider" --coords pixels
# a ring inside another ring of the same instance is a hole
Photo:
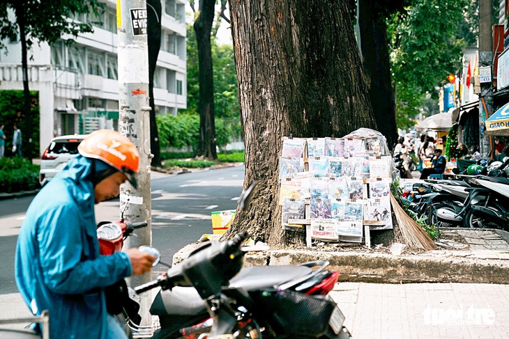
[[[108,338],[103,287],[131,274],[126,253],[100,255],[92,160],[79,155],[33,199],[17,239],[17,287],[51,338]]]

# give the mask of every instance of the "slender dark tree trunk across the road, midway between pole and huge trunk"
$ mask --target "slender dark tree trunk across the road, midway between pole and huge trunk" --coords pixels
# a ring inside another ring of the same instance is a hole
[[[217,160],[215,151],[214,79],[212,72],[211,31],[215,0],[199,1],[199,16],[194,28],[198,45],[199,136],[197,155]]]

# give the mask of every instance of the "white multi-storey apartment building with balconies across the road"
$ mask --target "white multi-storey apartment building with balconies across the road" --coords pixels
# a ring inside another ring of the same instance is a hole
[[[154,74],[158,113],[176,114],[187,106],[185,1],[161,0],[161,47]],[[61,40],[52,46],[34,44],[29,52],[29,88],[39,92],[40,154],[54,136],[118,130],[116,0],[102,2],[105,11],[100,17],[74,18],[92,22],[93,33],[79,35],[72,47]],[[5,45],[8,54],[0,54],[0,90],[22,90],[19,36]]]

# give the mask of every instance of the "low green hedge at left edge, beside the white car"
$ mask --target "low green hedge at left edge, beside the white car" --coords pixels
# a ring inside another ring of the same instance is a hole
[[[39,189],[39,165],[28,159],[3,157],[0,159],[0,192],[13,193]]]

